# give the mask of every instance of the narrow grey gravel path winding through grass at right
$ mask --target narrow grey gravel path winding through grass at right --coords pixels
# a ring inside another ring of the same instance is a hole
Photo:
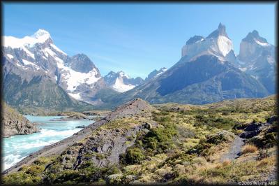
[[[244,139],[235,135],[234,142],[232,143],[231,148],[229,148],[227,154],[223,155],[223,157],[220,158],[220,162],[224,162],[226,159],[232,160],[239,157],[243,145]]]

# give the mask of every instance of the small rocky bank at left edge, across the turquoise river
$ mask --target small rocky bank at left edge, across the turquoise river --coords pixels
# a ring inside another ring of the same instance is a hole
[[[3,129],[2,137],[10,137],[17,134],[32,134],[39,131],[36,124],[27,120],[17,110],[11,108],[2,102],[3,113],[1,116],[1,124]]]

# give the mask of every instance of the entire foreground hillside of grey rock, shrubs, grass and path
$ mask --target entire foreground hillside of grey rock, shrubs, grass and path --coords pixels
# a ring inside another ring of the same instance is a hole
[[[204,106],[135,99],[22,159],[3,172],[3,183],[273,181],[275,108],[274,96]],[[255,124],[265,127],[246,138]]]

